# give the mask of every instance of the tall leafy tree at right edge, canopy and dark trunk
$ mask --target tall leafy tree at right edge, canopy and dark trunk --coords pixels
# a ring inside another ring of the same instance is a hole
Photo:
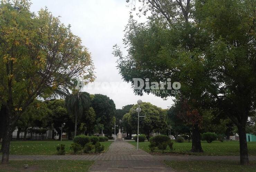
[[[238,128],[240,163],[249,164],[246,123],[256,110],[255,1],[196,1],[198,26],[207,33],[204,60],[218,107]]]

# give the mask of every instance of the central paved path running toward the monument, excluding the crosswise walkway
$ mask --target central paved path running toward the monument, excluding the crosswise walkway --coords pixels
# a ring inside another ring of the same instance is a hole
[[[91,167],[91,172],[174,171],[161,161],[152,159],[152,155],[142,150],[137,151],[134,146],[124,141],[113,142],[101,157],[111,160],[96,160]],[[136,160],[138,157],[140,160]]]

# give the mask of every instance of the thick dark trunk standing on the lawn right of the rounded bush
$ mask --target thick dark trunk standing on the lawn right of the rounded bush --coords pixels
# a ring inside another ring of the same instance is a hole
[[[190,151],[191,152],[203,152],[198,126],[194,126],[192,129],[192,148]]]

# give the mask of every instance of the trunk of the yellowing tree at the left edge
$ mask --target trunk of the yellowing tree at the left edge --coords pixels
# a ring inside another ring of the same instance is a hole
[[[12,128],[11,126],[7,126],[6,133],[3,136],[3,142],[2,142],[2,164],[9,163],[9,150],[10,150],[11,136],[12,136]]]

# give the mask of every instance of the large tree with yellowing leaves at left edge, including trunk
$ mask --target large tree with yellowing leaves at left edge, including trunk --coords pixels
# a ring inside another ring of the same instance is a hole
[[[30,1],[0,2],[0,105],[6,109],[2,163],[9,162],[12,127],[36,97],[63,94],[76,78],[94,79],[81,39],[47,9]]]

